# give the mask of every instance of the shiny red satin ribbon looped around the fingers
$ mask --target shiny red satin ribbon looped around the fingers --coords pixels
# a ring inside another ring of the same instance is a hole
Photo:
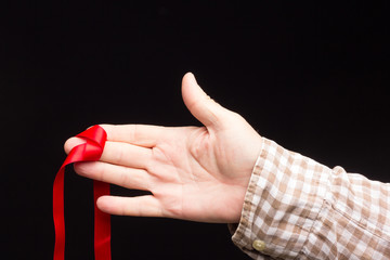
[[[99,160],[102,156],[107,134],[100,126],[93,126],[76,136],[87,142],[74,147],[56,173],[53,184],[53,219],[55,229],[54,260],[64,260],[65,219],[64,219],[64,172],[65,166],[78,161]],[[110,260],[109,214],[96,207],[96,199],[109,194],[109,184],[93,181],[94,197],[94,255],[95,260]]]

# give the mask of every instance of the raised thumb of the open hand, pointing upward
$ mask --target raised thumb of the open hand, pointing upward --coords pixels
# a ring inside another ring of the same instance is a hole
[[[182,81],[182,95],[191,114],[205,127],[219,127],[226,109],[216,103],[197,84],[192,73],[187,73]]]

